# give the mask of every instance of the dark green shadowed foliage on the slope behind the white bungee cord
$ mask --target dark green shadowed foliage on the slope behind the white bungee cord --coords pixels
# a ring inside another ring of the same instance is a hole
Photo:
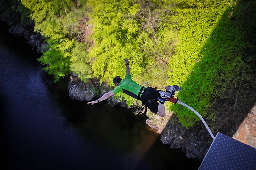
[[[179,93],[204,109],[214,134],[232,136],[256,103],[255,9],[251,0],[225,11]],[[186,116],[199,120],[193,114]]]

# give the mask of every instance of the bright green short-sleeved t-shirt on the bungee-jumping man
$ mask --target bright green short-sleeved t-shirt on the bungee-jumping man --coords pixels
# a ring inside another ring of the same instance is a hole
[[[115,94],[123,92],[135,99],[138,99],[140,89],[141,85],[133,81],[130,74],[126,74],[125,78],[121,80],[120,86],[116,87],[112,92]]]

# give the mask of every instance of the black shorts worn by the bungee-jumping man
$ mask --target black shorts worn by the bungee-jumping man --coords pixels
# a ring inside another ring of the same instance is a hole
[[[153,113],[158,112],[158,105],[157,97],[159,96],[159,92],[152,87],[145,88],[144,92],[141,95],[140,101],[142,104],[149,108],[149,110]]]

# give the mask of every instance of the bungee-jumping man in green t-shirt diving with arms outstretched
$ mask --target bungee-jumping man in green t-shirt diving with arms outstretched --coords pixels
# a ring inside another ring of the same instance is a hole
[[[180,91],[181,88],[178,85],[174,86],[166,86],[166,91],[157,90],[152,87],[145,87],[137,84],[132,80],[130,75],[130,66],[129,61],[126,58],[126,76],[122,80],[120,76],[116,76],[113,78],[113,83],[117,86],[111,92],[105,93],[102,97],[95,101],[88,102],[87,104],[96,104],[100,101],[106,100],[110,96],[113,96],[119,92],[123,92],[135,99],[142,101],[142,104],[149,108],[149,110],[159,116],[165,116],[165,107],[164,102],[166,99],[174,96],[175,91]],[[157,102],[159,100],[159,103]]]

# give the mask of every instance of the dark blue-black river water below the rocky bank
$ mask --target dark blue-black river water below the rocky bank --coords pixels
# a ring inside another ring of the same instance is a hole
[[[23,39],[0,31],[1,169],[198,169],[146,116],[72,100]]]

